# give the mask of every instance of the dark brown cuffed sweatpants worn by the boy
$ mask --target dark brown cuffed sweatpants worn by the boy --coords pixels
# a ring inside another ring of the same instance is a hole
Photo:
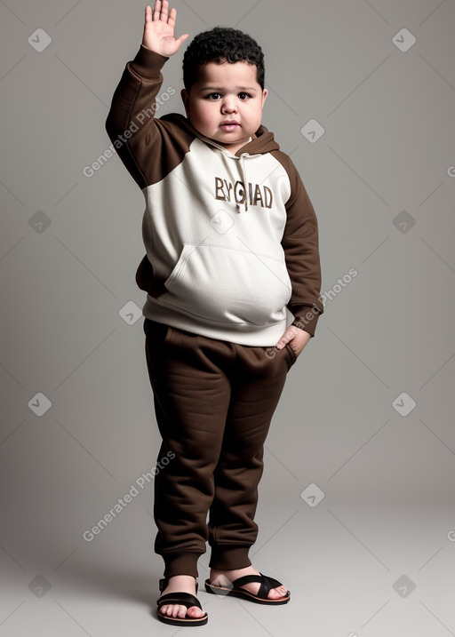
[[[154,517],[164,577],[197,577],[207,541],[211,568],[250,566],[263,445],[296,356],[289,344],[236,345],[148,318],[144,331],[163,438]]]

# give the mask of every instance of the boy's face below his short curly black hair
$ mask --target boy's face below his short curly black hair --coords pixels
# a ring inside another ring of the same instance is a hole
[[[196,131],[235,153],[258,130],[267,90],[260,88],[256,66],[249,62],[207,62],[181,97]]]

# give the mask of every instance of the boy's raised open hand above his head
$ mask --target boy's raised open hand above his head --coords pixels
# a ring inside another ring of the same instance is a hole
[[[169,12],[168,0],[156,0],[155,9],[146,6],[146,19],[144,24],[144,36],[142,44],[156,53],[161,53],[169,57],[180,49],[187,37],[188,33],[180,36],[177,40],[174,37],[175,17],[177,11],[171,9]]]

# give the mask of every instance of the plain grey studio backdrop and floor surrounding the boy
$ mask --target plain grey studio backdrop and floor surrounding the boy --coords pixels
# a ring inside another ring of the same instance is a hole
[[[252,561],[291,603],[203,591],[197,630],[454,635],[455,2],[175,5],[179,35],[220,24],[262,44],[263,122],[314,203],[323,291],[336,292],[289,374],[260,484]],[[116,155],[83,174],[110,145],[144,7],[0,2],[1,637],[177,631],[150,614],[151,483],[83,538],[159,444],[134,282],[143,195]],[[41,52],[37,28],[52,38]],[[402,28],[416,38],[405,52]],[[182,54],[158,115],[183,112]],[[313,119],[319,139],[301,132]],[[36,394],[52,403],[41,416]]]

